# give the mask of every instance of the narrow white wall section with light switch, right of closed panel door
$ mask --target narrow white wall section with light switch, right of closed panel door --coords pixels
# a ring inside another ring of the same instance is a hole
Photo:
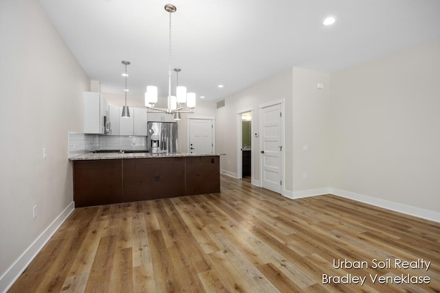
[[[292,72],[292,112],[287,115],[293,117],[293,191],[328,187],[330,76],[297,67]],[[316,88],[318,82],[324,89]]]

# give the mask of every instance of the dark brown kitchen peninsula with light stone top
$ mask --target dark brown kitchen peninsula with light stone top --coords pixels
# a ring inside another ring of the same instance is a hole
[[[69,160],[76,207],[220,192],[216,154],[89,152]]]

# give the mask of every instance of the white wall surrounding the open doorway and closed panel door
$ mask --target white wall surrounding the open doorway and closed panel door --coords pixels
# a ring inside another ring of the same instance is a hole
[[[217,152],[226,154],[220,158],[220,169],[228,174],[236,174],[236,113],[241,110],[253,110],[252,132],[259,131],[259,106],[260,104],[285,99],[285,161],[292,162],[292,68],[286,69],[272,78],[267,78],[247,89],[225,97],[225,106],[217,109],[216,116],[216,142]],[[259,181],[259,137],[252,137],[252,176]],[[285,189],[292,191],[292,163],[286,164]]]

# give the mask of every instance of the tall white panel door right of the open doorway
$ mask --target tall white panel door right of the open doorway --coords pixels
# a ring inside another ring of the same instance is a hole
[[[281,104],[261,108],[262,187],[281,194]]]

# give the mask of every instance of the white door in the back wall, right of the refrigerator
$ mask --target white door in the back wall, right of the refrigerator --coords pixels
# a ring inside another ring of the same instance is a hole
[[[190,154],[212,154],[214,147],[212,130],[211,119],[190,119],[188,152]]]

